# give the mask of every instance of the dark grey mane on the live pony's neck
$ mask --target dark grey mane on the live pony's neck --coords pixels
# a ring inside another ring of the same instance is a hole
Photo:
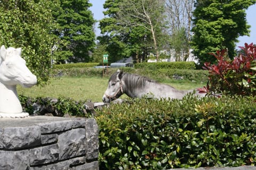
[[[127,90],[133,89],[143,89],[145,88],[146,82],[155,82],[155,80],[151,80],[147,77],[143,77],[137,74],[123,73],[122,80],[125,82],[125,86]]]

